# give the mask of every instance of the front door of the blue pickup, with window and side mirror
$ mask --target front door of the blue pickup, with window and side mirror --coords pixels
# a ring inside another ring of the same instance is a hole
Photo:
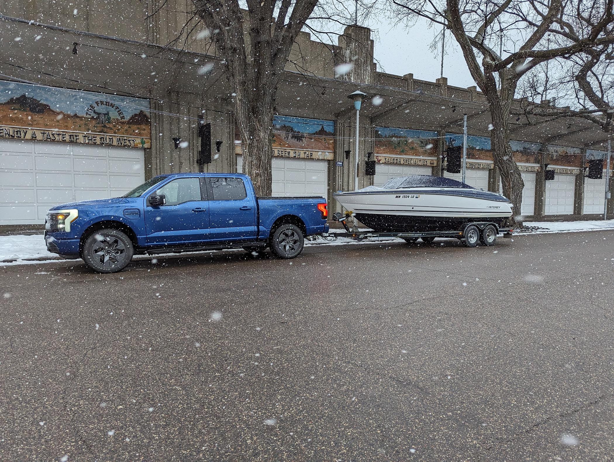
[[[166,203],[152,206],[145,199],[148,245],[198,244],[209,239],[209,210],[203,177],[179,177],[153,194]],[[152,194],[149,195],[151,197]]]

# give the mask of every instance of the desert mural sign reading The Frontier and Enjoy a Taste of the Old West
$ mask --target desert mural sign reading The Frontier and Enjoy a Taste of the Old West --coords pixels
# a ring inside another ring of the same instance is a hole
[[[0,80],[0,138],[150,148],[149,100]]]

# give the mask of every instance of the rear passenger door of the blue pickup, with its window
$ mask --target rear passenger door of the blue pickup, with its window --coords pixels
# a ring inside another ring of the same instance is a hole
[[[211,241],[250,241],[256,238],[256,202],[243,179],[206,177]]]

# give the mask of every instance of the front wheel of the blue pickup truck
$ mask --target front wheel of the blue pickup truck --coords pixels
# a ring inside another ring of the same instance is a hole
[[[122,271],[134,255],[130,237],[119,229],[99,229],[90,234],[81,250],[85,264],[96,272]]]

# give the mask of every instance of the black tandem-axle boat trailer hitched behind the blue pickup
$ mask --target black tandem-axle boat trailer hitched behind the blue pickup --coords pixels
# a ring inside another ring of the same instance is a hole
[[[465,247],[475,247],[480,242],[484,245],[494,245],[497,240],[498,234],[503,234],[503,237],[511,237],[514,231],[513,228],[501,228],[496,223],[491,221],[475,221],[473,223],[464,223],[461,228],[453,230],[442,231],[421,231],[421,232],[391,232],[391,233],[379,233],[376,231],[360,231],[356,226],[356,221],[352,225],[352,229],[349,228],[347,220],[351,218],[350,212],[335,212],[332,216],[333,221],[339,221],[345,233],[324,233],[324,238],[337,237],[349,237],[356,241],[365,241],[371,237],[397,237],[399,239],[405,239],[406,242],[416,242],[418,239],[422,239],[424,242],[433,242],[435,237],[449,237],[459,239],[465,245]]]

